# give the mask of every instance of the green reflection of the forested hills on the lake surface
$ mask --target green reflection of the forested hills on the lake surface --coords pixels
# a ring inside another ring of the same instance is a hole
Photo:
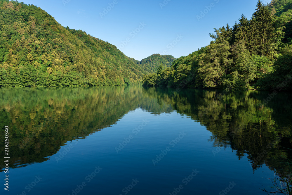
[[[279,155],[292,158],[286,149],[292,141],[292,96],[281,93],[264,105],[267,94],[140,86],[2,88],[0,126],[9,126],[9,166],[17,168],[48,160],[68,141],[109,127],[137,107],[153,115],[176,110],[206,126],[209,141],[218,146],[214,155],[230,147],[239,159],[247,155],[253,169],[282,169]]]

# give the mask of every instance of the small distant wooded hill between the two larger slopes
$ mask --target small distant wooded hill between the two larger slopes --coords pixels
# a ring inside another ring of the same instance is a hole
[[[142,59],[141,61],[135,60],[131,58],[134,63],[139,64],[143,70],[152,73],[153,70],[157,70],[157,68],[162,64],[164,67],[170,67],[171,63],[176,59],[171,55],[163,55],[153,54],[147,58]]]

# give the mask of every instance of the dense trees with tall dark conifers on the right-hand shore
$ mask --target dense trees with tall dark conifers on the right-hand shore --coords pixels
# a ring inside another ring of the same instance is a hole
[[[258,1],[251,19],[241,15],[198,51],[159,66],[143,85],[217,89],[292,89],[292,1]]]

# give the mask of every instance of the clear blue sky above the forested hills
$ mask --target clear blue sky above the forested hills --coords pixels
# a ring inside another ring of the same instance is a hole
[[[62,26],[84,30],[87,34],[114,44],[126,56],[141,60],[152,54],[170,54],[179,58],[208,45],[212,40],[208,34],[214,32],[214,27],[219,28],[226,23],[233,26],[241,14],[251,18],[257,1],[24,0],[23,2],[44,9]],[[263,3],[266,4],[267,1],[264,0]],[[104,8],[109,11],[104,11]],[[201,15],[202,12],[205,12],[205,15]],[[198,16],[203,17],[198,18]]]

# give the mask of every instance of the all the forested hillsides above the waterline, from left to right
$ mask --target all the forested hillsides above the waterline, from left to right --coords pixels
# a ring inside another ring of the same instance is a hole
[[[141,61],[37,6],[0,0],[0,12],[0,87],[292,89],[292,0],[258,1],[251,19],[214,28],[214,40],[188,56]]]

